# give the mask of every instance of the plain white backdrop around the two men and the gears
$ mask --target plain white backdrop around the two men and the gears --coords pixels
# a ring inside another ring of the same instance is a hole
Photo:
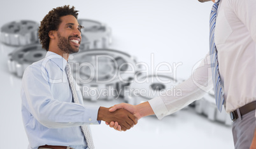
[[[177,76],[187,79],[192,67],[208,52],[209,15],[213,3],[197,0],[84,0],[84,1],[3,1],[0,4],[0,27],[13,20],[34,20],[57,6],[70,4],[88,18],[106,23],[112,29],[111,49],[136,56],[150,65],[160,62],[183,63]],[[10,48],[12,49],[12,48]],[[0,55],[0,146],[27,148],[20,108],[21,79],[8,72],[9,48],[1,46]],[[110,107],[122,101],[99,101],[85,104]],[[92,126],[96,148],[234,148],[231,127],[211,122],[194,110],[181,110],[162,120],[145,117],[127,132],[117,132],[102,122]]]

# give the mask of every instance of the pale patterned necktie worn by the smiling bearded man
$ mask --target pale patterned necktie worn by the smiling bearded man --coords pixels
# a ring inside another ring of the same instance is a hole
[[[76,93],[76,87],[75,87],[76,82],[75,82],[75,80],[74,80],[74,78],[71,74],[69,62],[66,65],[66,73],[67,73],[67,76],[68,76],[69,86],[70,86],[71,91],[72,91],[73,100],[74,100],[75,103],[81,104],[80,101],[78,100],[78,96],[77,96],[77,93]],[[90,134],[89,127],[87,127],[87,125],[82,125],[81,129],[82,129],[83,134],[85,136],[88,148],[89,149],[94,149],[94,142],[92,141],[92,134]]]

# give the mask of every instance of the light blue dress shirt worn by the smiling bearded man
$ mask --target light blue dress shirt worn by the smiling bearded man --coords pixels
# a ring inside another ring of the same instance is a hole
[[[73,103],[66,74],[67,61],[62,56],[47,52],[45,58],[26,68],[22,78],[22,118],[29,147],[41,145],[86,148],[81,125],[100,124],[99,107]],[[76,84],[78,99],[82,93]]]

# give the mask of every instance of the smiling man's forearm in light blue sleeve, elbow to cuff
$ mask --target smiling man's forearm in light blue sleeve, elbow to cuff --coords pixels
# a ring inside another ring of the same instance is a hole
[[[32,115],[43,126],[49,128],[74,127],[83,124],[99,124],[97,121],[98,108],[50,101],[47,105],[41,105],[38,110],[33,110]]]

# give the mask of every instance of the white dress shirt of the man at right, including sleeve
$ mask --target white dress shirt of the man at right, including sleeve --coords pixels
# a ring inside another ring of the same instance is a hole
[[[215,44],[226,112],[256,100],[255,10],[255,0],[223,0],[218,6]],[[149,101],[159,119],[201,99],[213,88],[208,55],[191,77],[177,86],[182,96],[159,96]]]

